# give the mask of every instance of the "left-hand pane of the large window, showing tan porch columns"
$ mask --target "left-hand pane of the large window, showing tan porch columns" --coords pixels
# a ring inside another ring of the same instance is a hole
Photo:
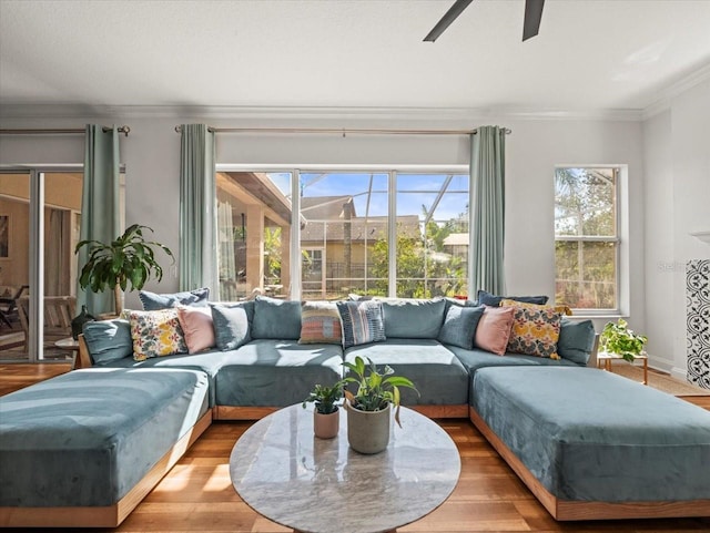
[[[216,175],[220,299],[254,288],[271,296],[290,286],[291,173]]]

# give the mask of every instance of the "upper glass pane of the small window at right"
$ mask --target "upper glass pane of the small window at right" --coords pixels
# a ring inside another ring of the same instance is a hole
[[[616,168],[555,171],[555,235],[613,237]]]

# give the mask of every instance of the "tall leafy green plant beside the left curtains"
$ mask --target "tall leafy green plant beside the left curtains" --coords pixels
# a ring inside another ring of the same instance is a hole
[[[89,258],[81,269],[79,286],[82,289],[89,287],[94,293],[113,289],[116,315],[123,311],[122,291],[129,284],[131,290],[140,290],[151,276],[155,276],[159,281],[163,278],[163,269],[155,260],[154,248],[162,249],[175,263],[168,246],[145,240],[144,229],[153,232],[148,226],[133,224],[111,243],[81,240],[74,249],[74,254],[78,254],[82,247],[89,246]]]

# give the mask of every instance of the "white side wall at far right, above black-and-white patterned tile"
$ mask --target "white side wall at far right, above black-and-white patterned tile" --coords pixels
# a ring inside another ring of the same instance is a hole
[[[684,379],[686,263],[710,258],[690,233],[710,230],[710,81],[643,123],[646,324],[656,366]]]

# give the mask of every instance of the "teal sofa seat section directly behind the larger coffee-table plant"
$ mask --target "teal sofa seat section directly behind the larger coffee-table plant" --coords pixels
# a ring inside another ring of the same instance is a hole
[[[395,376],[409,378],[419,391],[403,388],[403,406],[465,406],[469,376],[456,356],[435,339],[387,339],[345,350],[345,360],[359,356],[376,366],[389,365]]]

